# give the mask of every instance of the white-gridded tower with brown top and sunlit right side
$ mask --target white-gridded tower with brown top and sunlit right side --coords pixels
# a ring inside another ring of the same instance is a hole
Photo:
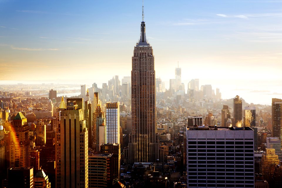
[[[120,104],[106,103],[106,143],[120,143]]]

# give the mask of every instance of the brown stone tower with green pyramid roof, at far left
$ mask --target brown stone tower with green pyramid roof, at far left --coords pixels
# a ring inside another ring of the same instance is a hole
[[[19,112],[12,121],[10,130],[10,167],[29,166],[29,127],[27,119]]]

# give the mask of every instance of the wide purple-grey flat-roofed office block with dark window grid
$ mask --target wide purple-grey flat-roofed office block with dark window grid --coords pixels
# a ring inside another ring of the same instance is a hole
[[[187,127],[187,187],[254,187],[254,130]]]

